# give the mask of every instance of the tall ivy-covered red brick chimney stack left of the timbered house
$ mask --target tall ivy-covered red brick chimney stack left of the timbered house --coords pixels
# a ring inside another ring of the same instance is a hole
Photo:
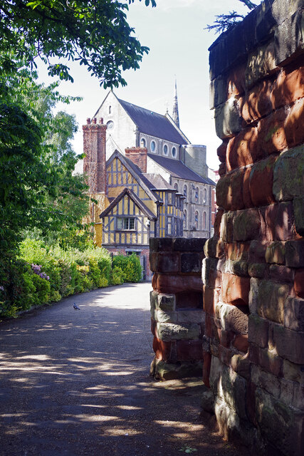
[[[96,118],[92,121],[87,119],[87,125],[83,125],[83,172],[88,175],[90,193],[105,193],[107,182],[105,172],[105,133],[107,125],[103,124],[103,118],[97,123]]]

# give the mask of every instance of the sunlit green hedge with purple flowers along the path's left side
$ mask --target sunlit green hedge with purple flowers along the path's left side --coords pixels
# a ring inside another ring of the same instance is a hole
[[[26,239],[19,259],[0,259],[0,316],[15,317],[32,306],[108,285],[141,280],[135,254],[110,257],[106,249],[63,250]]]

